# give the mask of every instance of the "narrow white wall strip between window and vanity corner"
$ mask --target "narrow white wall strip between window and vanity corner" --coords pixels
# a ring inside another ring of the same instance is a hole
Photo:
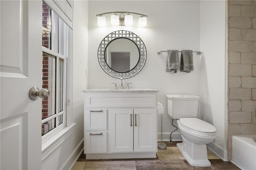
[[[84,93],[88,79],[88,1],[74,0],[73,46],[73,120],[76,123],[74,140],[84,138]]]

